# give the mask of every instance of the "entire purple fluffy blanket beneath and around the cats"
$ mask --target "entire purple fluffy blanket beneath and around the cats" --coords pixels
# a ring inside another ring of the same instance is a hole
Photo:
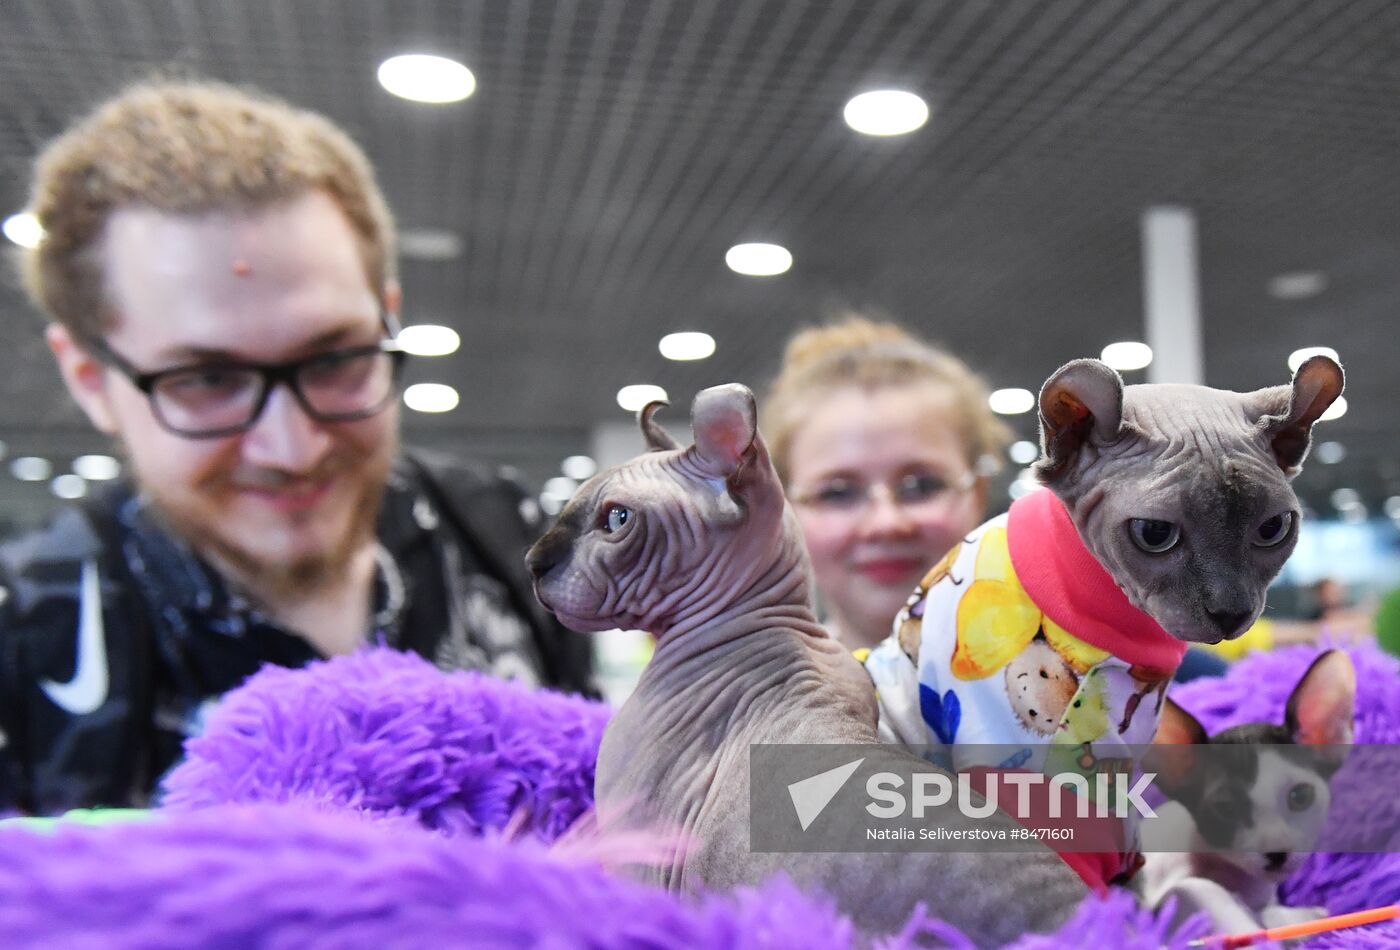
[[[1315,649],[1256,655],[1173,695],[1208,729],[1281,718]],[[1352,651],[1357,742],[1400,743],[1400,669]],[[608,872],[587,824],[605,708],[370,651],[267,669],[220,707],[153,820],[0,825],[0,946],[847,947],[820,895],[774,880],[687,901]],[[1390,807],[1400,807],[1392,804]],[[626,852],[626,846],[620,851]],[[1333,912],[1400,900],[1400,856],[1319,855],[1288,881]],[[1126,894],[1015,946],[1179,947]],[[911,921],[889,946],[970,946]],[[1380,925],[1317,947],[1389,947]]]

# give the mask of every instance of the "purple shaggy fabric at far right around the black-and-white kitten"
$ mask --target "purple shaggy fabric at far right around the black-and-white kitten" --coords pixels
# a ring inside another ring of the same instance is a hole
[[[1172,698],[1190,711],[1207,732],[1217,732],[1243,722],[1284,721],[1284,704],[1308,666],[1320,653],[1316,646],[1294,646],[1271,653],[1252,653],[1235,663],[1218,680],[1193,680],[1172,690]],[[1400,660],[1375,646],[1347,651],[1357,666],[1357,735],[1358,743],[1400,743]],[[1358,809],[1366,818],[1348,817],[1350,824],[1366,821],[1376,834],[1400,827],[1400,757],[1385,756],[1376,771],[1343,770],[1333,781],[1334,799]],[[1337,810],[1333,810],[1337,814]],[[1362,825],[1366,827],[1366,825]],[[1380,831],[1385,830],[1385,831]],[[1392,842],[1397,846],[1400,842]],[[1316,904],[1333,914],[1347,914],[1400,901],[1400,853],[1330,853],[1315,855],[1284,883],[1288,904]],[[1400,923],[1380,923],[1338,930],[1315,937],[1309,947],[1396,947]]]

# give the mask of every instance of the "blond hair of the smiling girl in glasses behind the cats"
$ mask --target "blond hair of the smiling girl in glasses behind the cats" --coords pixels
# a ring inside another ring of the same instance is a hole
[[[925,383],[946,389],[969,467],[979,474],[997,472],[1011,430],[988,409],[986,383],[962,360],[895,323],[864,316],[798,332],[763,402],[763,438],[783,483],[788,484],[792,439],[816,397],[841,386]]]

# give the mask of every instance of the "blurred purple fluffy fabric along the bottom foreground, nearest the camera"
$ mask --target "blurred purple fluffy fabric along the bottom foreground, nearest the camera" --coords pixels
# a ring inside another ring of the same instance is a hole
[[[539,846],[298,806],[53,834],[0,825],[4,947],[847,947],[771,881],[697,904]]]

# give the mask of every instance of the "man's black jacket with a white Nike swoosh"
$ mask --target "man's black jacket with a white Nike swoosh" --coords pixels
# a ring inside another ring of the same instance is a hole
[[[406,455],[379,513],[372,638],[595,694],[589,639],[531,589],[526,508],[483,467]],[[0,546],[0,813],[146,804],[220,695],[314,659],[113,484]]]

